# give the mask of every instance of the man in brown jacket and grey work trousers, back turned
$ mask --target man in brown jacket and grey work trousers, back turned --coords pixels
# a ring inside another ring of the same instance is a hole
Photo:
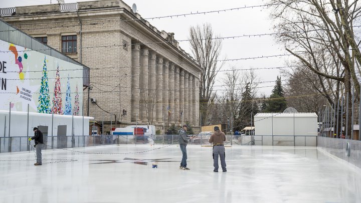
[[[218,155],[221,159],[222,171],[226,172],[226,149],[224,142],[227,140],[226,135],[218,126],[214,127],[214,133],[211,135],[209,142],[213,143],[213,166],[214,172],[218,172]]]

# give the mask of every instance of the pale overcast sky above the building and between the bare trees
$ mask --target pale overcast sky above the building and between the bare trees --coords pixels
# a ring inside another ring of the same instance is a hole
[[[206,11],[215,11],[222,9],[239,8],[245,6],[264,5],[262,0],[229,0],[229,1],[216,1],[216,0],[183,0],[183,1],[168,1],[168,0],[123,0],[130,7],[136,4],[137,13],[142,18],[169,16],[176,14],[188,14]],[[65,0],[65,3],[84,2],[83,0]],[[56,3],[52,0],[52,3]],[[1,7],[19,7],[30,5],[50,4],[50,0],[2,0]],[[193,15],[178,18],[165,18],[160,20],[148,20],[149,23],[155,26],[158,30],[164,30],[168,33],[174,33],[175,40],[189,39],[189,28],[197,24],[210,23],[213,27],[215,34],[221,37],[240,36],[240,35],[253,35],[253,34],[266,34],[272,33],[272,22],[269,20],[269,11],[265,8],[247,8],[228,12],[220,12],[206,14],[206,15]],[[180,42],[186,52],[191,54],[189,42]],[[226,39],[223,41],[222,59],[237,59],[249,58],[259,56],[270,56],[285,54],[282,45],[277,45],[270,36],[261,37],[245,37]],[[222,68],[229,70],[231,66],[236,66],[239,69],[249,68],[268,68],[268,67],[282,67],[287,57],[273,57],[254,60],[241,60],[238,62],[227,62]],[[223,72],[224,73],[224,72]],[[222,85],[224,78],[223,73],[219,73],[215,85]],[[258,93],[270,95],[274,81],[279,75],[279,69],[258,70],[256,74],[260,81],[272,81],[260,84]],[[284,82],[283,82],[284,83]],[[216,87],[217,89],[224,89],[224,87]]]

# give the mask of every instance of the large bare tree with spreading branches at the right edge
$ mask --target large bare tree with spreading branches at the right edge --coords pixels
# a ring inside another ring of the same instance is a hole
[[[323,86],[328,82],[324,78],[343,83],[345,97],[351,91],[351,83],[358,93],[360,87],[355,70],[359,69],[355,69],[355,64],[361,63],[361,53],[359,32],[353,27],[361,14],[357,1],[270,0],[269,3],[273,5],[271,17],[276,22],[274,29],[279,33],[277,40],[307,69],[317,74],[321,92],[328,102],[334,104],[334,99],[339,96],[331,98]],[[340,87],[338,85],[336,87]],[[350,99],[346,103],[350,105]],[[348,125],[350,134],[351,123]]]

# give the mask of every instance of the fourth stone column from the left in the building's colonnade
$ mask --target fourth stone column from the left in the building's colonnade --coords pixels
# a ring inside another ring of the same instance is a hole
[[[163,122],[163,57],[156,61],[156,121]]]

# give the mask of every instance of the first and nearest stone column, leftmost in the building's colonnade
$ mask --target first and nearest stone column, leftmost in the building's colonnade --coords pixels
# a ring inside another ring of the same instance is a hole
[[[132,68],[131,68],[131,121],[139,118],[139,45],[132,45]]]

